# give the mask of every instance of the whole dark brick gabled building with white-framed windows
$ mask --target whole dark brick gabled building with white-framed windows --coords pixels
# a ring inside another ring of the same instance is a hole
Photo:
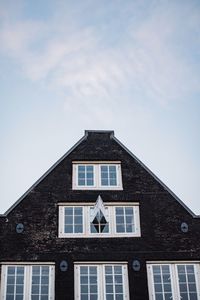
[[[200,219],[86,131],[1,215],[0,263],[1,300],[200,300]]]

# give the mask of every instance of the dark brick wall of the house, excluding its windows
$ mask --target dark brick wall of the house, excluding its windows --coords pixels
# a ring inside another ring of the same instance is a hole
[[[121,161],[123,191],[73,191],[72,161]],[[173,172],[173,170],[172,170]],[[140,203],[140,238],[58,238],[58,202]],[[189,231],[183,233],[181,223]],[[24,232],[17,234],[16,224]],[[67,260],[67,272],[59,270]],[[141,270],[132,269],[139,259]],[[200,219],[194,218],[141,164],[112,138],[90,132],[7,216],[0,217],[0,261],[50,261],[56,299],[74,299],[75,261],[128,261],[130,299],[148,299],[146,261],[200,260]]]

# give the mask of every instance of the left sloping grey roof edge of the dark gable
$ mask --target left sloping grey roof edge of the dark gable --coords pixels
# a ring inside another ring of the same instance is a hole
[[[84,136],[72,146],[56,163],[54,163],[4,214],[0,214],[0,217],[7,217],[7,215],[55,168],[57,165],[65,159],[80,143],[87,139],[87,131],[85,130]]]

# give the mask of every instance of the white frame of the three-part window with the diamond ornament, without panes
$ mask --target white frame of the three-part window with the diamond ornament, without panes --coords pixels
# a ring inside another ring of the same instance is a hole
[[[110,238],[110,237],[140,237],[140,213],[139,213],[139,203],[104,203],[105,207],[108,208],[109,217],[109,232],[108,233],[90,233],[90,208],[95,205],[95,203],[59,203],[59,228],[58,237],[59,238]],[[83,233],[65,233],[64,232],[64,210],[65,207],[82,207],[83,209]],[[134,213],[134,232],[117,232],[116,230],[116,207],[133,207]]]

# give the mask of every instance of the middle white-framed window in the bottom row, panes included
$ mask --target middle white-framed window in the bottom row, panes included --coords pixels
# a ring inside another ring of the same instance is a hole
[[[127,265],[76,264],[75,298],[77,300],[128,300]]]

